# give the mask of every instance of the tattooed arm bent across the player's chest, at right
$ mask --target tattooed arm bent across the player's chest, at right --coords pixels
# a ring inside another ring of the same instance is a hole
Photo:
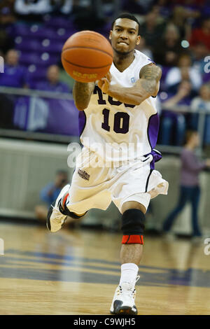
[[[162,71],[155,64],[148,64],[140,71],[140,78],[134,87],[121,87],[120,85],[111,85],[111,74],[108,73],[105,78],[99,80],[98,86],[102,92],[126,104],[139,105],[150,96],[156,96],[159,90],[159,81]]]

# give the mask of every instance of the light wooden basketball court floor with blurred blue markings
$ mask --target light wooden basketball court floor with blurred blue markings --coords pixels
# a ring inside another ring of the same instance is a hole
[[[0,222],[0,314],[109,314],[120,278],[120,233]],[[145,236],[139,315],[210,314],[204,244]]]

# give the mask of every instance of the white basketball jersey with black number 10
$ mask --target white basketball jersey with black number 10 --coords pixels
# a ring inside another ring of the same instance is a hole
[[[123,72],[111,65],[111,85],[132,87],[139,80],[139,72],[151,59],[138,50],[134,55]],[[87,109],[79,112],[81,143],[104,162],[132,161],[153,153],[159,129],[155,102],[148,97],[137,106],[123,104],[95,85]]]

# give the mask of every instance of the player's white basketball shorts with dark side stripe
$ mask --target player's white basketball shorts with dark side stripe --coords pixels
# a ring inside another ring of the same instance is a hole
[[[66,206],[78,215],[97,208],[106,210],[111,201],[122,214],[127,201],[136,201],[147,209],[151,198],[167,195],[168,182],[150,167],[152,155],[121,167],[92,167],[97,155],[83,148],[83,160],[77,161]],[[149,193],[150,192],[150,193]]]

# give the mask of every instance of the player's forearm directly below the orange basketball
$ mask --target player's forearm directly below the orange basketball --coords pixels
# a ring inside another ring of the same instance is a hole
[[[94,90],[93,83],[80,83],[75,81],[73,84],[73,100],[79,111],[87,108],[90,102],[90,96]]]

